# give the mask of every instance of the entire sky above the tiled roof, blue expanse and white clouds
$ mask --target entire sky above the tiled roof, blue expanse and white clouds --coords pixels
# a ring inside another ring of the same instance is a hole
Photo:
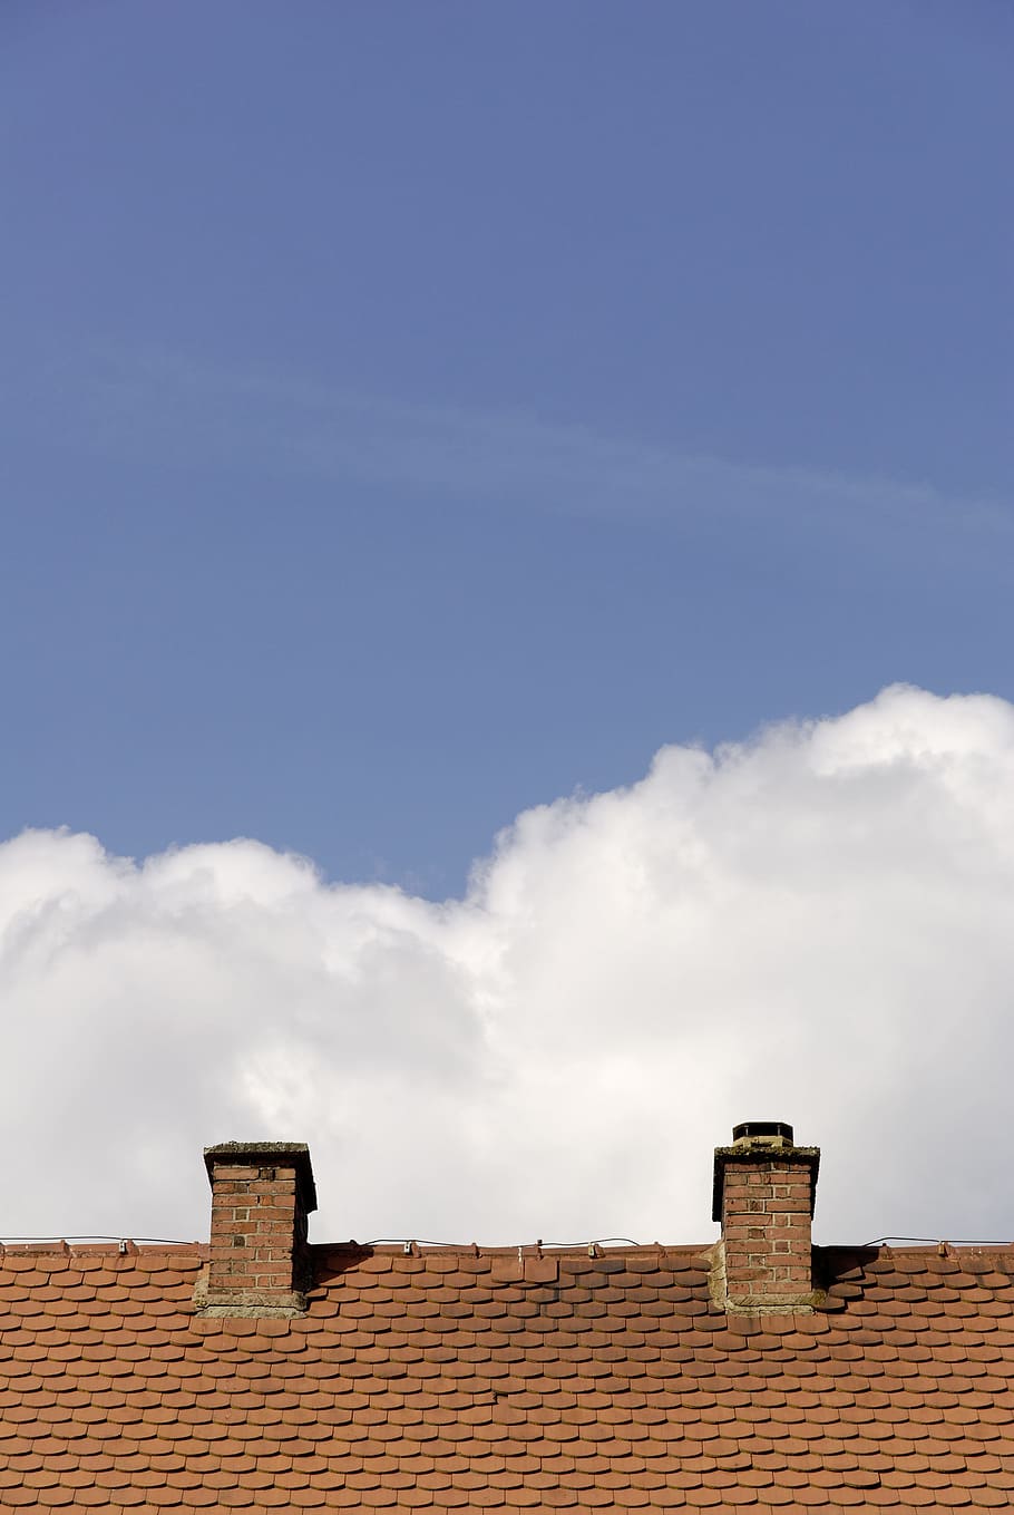
[[[1014,1233],[1012,50],[6,0],[0,1233]]]

